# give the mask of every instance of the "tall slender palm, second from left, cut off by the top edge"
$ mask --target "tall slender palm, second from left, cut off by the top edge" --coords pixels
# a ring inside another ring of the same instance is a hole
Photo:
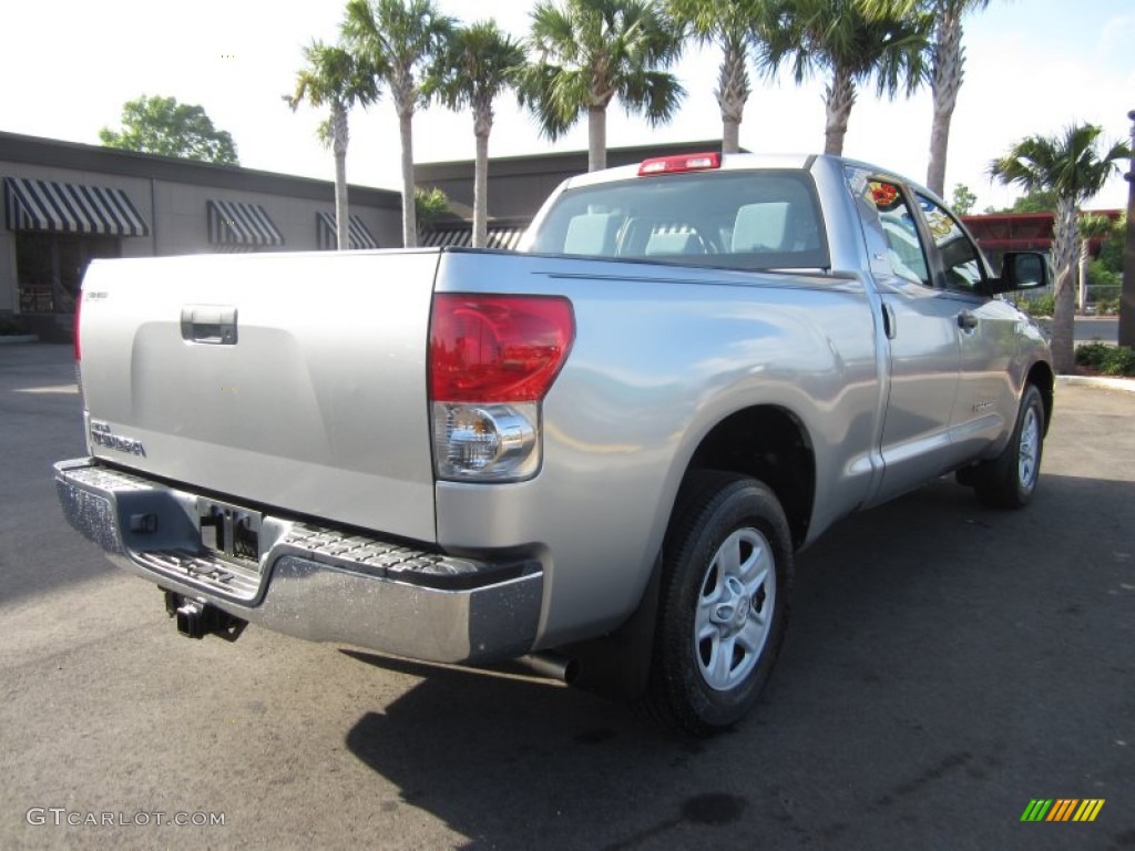
[[[350,0],[343,36],[390,87],[402,140],[402,244],[418,245],[414,217],[414,110],[426,68],[453,28],[434,0]]]

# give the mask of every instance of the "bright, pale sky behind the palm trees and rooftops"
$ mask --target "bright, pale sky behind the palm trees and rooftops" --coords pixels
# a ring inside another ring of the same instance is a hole
[[[728,0],[726,0],[728,1]],[[472,23],[495,17],[523,35],[528,0],[439,0]],[[283,100],[312,39],[334,41],[345,0],[56,0],[0,7],[8,68],[0,86],[0,129],[99,144],[101,127],[120,127],[123,104],[142,94],[200,104],[228,130],[241,165],[334,179],[330,152],[316,128],[320,110],[293,113]],[[966,77],[953,115],[947,195],[965,184],[976,210],[1001,208],[1019,194],[994,185],[990,160],[1031,135],[1057,134],[1073,123],[1103,127],[1111,143],[1129,137],[1135,109],[1135,2],[1132,0],[991,0],[965,19]],[[713,96],[717,49],[689,47],[672,70],[688,94],[678,116],[656,128],[612,104],[607,143],[681,143],[720,138]],[[823,79],[797,86],[791,77],[754,79],[741,125],[741,146],[759,153],[823,150]],[[878,100],[861,91],[844,154],[925,182],[931,95]],[[506,95],[496,107],[490,157],[586,150],[586,119],[555,143]],[[472,118],[439,106],[414,119],[417,162],[473,158]],[[400,188],[394,107],[384,98],[351,113],[347,179]],[[1113,177],[1091,209],[1126,208],[1127,184]],[[491,209],[491,197],[490,197]]]

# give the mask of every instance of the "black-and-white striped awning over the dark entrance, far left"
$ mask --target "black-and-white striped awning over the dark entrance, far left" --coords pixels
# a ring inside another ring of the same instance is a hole
[[[150,235],[137,208],[121,189],[6,177],[3,194],[9,230]]]

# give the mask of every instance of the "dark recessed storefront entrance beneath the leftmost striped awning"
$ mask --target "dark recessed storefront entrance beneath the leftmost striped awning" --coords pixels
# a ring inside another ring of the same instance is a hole
[[[17,231],[20,313],[74,313],[87,263],[120,255],[117,236]]]

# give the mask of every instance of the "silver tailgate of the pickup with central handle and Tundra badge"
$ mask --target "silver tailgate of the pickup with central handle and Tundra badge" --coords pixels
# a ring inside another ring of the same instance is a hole
[[[437,251],[95,261],[91,454],[233,500],[436,537]]]

